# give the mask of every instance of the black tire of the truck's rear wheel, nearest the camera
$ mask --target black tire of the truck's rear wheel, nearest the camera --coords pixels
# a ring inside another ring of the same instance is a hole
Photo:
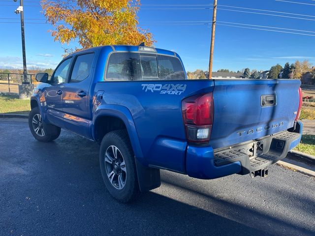
[[[112,159],[113,164],[110,164],[109,162],[106,163],[105,162],[106,151],[108,151],[109,153],[111,150],[114,149],[113,147],[116,147],[118,149],[118,151],[116,151],[117,159],[115,158]],[[114,163],[119,163],[116,165],[116,167],[120,166],[121,165],[120,160],[125,161],[126,168],[123,168],[126,169],[125,175],[124,171],[121,170],[120,174],[118,171],[118,174],[113,174],[114,177],[111,178],[112,179],[111,181],[110,177],[108,177],[108,172],[114,172],[114,167],[113,171],[110,170],[110,167],[111,165],[114,165]],[[140,190],[134,154],[126,130],[112,131],[107,133],[103,137],[103,140],[100,145],[99,164],[100,171],[102,173],[102,177],[107,187],[107,190],[116,200],[118,200],[121,203],[130,203],[136,200],[136,198],[140,194]],[[124,187],[122,187],[121,189],[118,189],[118,187],[121,186],[117,186],[120,185],[118,183],[119,176],[121,176],[122,180],[124,177],[126,177]],[[117,181],[115,181],[116,177]]]

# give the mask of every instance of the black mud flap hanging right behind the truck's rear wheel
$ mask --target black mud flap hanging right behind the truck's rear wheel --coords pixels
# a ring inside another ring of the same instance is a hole
[[[147,192],[161,186],[159,169],[150,168],[140,163],[135,158],[139,188],[141,192]]]

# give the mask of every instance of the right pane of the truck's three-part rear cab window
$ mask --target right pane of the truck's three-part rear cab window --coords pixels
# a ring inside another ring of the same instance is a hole
[[[183,65],[178,58],[158,55],[160,80],[185,80]]]

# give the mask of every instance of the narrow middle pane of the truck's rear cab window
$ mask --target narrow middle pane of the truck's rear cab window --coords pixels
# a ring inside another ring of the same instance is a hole
[[[158,80],[157,57],[140,56],[142,80]]]

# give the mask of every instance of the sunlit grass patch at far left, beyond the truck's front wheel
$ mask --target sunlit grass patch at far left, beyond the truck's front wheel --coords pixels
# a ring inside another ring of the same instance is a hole
[[[19,99],[17,95],[0,95],[0,113],[29,114],[30,100]]]

